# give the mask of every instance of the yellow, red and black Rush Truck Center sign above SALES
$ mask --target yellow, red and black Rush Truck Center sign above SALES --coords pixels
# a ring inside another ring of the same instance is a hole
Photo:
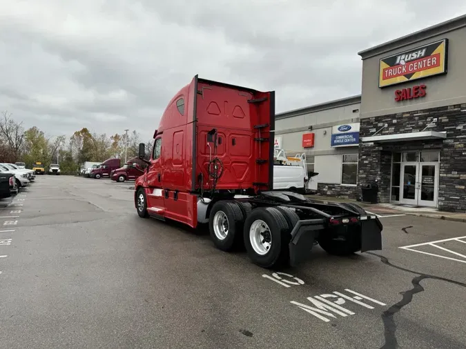
[[[378,87],[447,73],[448,39],[380,59]]]

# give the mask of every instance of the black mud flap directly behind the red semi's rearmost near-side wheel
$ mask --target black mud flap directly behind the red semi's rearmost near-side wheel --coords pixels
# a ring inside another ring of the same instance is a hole
[[[324,219],[305,219],[298,221],[291,231],[289,243],[290,266],[298,266],[310,255],[315,239],[318,238],[320,230],[324,229]]]

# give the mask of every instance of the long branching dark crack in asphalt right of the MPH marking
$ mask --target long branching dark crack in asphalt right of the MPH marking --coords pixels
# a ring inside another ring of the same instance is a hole
[[[401,301],[399,301],[398,303],[395,303],[393,306],[385,310],[385,312],[382,312],[382,321],[383,321],[383,326],[385,329],[385,332],[384,332],[385,344],[380,349],[398,348],[398,341],[396,340],[396,335],[395,335],[396,323],[394,320],[394,315],[397,312],[399,312],[404,306],[407,306],[409,303],[411,303],[411,301],[413,300],[413,296],[416,295],[416,293],[424,291],[423,286],[420,285],[420,281],[423,281],[424,279],[434,279],[434,280],[454,283],[455,285],[463,286],[466,288],[466,283],[446,279],[445,277],[436,277],[434,275],[428,275],[428,274],[423,274],[420,272],[415,272],[407,268],[395,266],[394,264],[389,262],[387,257],[377,255],[376,253],[373,253],[373,252],[366,252],[366,253],[380,258],[380,261],[382,261],[382,263],[386,264],[387,266],[391,266],[391,267],[394,267],[396,269],[399,269],[405,272],[411,272],[412,274],[417,274],[417,276],[411,280],[411,283],[413,284],[414,287],[411,288],[411,290],[400,292],[400,295],[402,295]]]

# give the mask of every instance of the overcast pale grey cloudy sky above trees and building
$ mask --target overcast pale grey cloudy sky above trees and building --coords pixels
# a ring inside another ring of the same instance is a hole
[[[359,94],[358,51],[465,13],[461,0],[0,1],[0,110],[49,135],[150,139],[199,74],[275,90],[282,112]]]

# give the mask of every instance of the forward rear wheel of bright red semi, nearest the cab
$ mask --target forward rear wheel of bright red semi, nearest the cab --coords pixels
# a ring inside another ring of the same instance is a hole
[[[231,251],[241,242],[244,215],[235,201],[221,200],[213,204],[208,216],[208,231],[219,250]]]

